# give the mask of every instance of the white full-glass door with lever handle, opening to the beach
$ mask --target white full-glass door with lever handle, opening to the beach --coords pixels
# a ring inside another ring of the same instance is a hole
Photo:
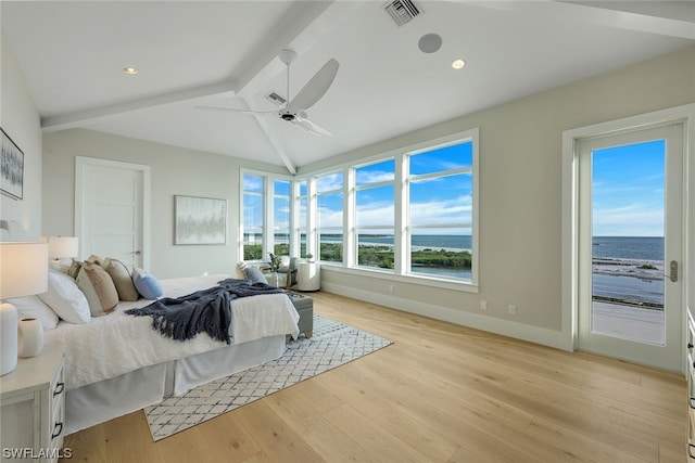
[[[683,124],[579,143],[579,347],[681,369]]]

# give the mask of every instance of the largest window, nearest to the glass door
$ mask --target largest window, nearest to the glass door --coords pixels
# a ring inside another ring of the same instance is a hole
[[[473,143],[407,156],[408,273],[472,281]]]

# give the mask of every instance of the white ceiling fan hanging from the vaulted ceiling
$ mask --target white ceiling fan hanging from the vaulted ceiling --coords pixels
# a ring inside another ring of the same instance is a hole
[[[328,88],[333,82],[336,75],[338,74],[338,67],[340,63],[334,59],[328,60],[324,66],[309,79],[306,85],[300,90],[300,92],[290,99],[290,65],[296,60],[296,52],[293,50],[282,50],[278,54],[280,61],[287,66],[287,101],[282,107],[278,111],[251,111],[251,110],[232,110],[229,107],[219,106],[195,106],[200,110],[208,111],[223,111],[229,113],[245,113],[257,114],[264,116],[279,116],[280,119],[294,124],[301,129],[321,137],[331,137],[331,133],[312,123],[306,118],[306,110],[312,107],[318,100],[324,97]]]

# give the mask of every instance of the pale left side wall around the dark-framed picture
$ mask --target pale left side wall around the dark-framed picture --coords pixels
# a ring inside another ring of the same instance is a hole
[[[0,195],[0,219],[18,226],[13,239],[34,241],[41,234],[41,128],[16,57],[0,34],[0,127],[24,152],[22,200]]]

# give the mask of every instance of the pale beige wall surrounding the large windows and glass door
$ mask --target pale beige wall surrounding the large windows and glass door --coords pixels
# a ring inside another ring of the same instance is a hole
[[[695,47],[304,166],[300,173],[480,128],[480,292],[395,282],[389,293],[378,274],[330,267],[324,268],[323,287],[501,334],[566,345],[560,335],[563,131],[693,102]],[[693,192],[691,201],[695,205]],[[692,230],[691,258],[694,234]],[[481,300],[488,303],[485,312]],[[510,304],[517,306],[516,317],[507,313]]]

